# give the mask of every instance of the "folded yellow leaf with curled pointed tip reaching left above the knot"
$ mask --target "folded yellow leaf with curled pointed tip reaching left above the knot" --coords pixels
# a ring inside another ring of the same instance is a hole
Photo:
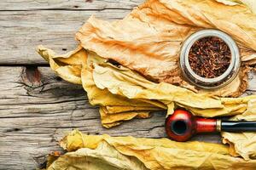
[[[93,53],[88,53],[84,48],[79,47],[73,52],[56,55],[52,50],[44,48],[43,46],[38,46],[38,53],[41,54],[44,59],[49,61],[50,67],[58,76],[68,82],[82,84],[84,90],[87,91],[87,96],[91,105],[109,106],[109,111],[105,110],[105,114],[102,116],[102,125],[104,127],[109,128],[117,126],[122,121],[130,120],[134,117],[146,118],[148,117],[146,115],[150,111],[166,109],[166,105],[163,105],[158,101],[148,99],[127,99],[123,96],[111,94],[107,89],[102,90],[96,88],[92,79],[90,62],[91,60],[97,60],[102,63],[105,62],[105,60],[97,57]],[[130,111],[130,113],[128,114],[127,111]],[[116,116],[108,116],[108,114],[116,113],[119,114]],[[111,122],[109,121],[110,118]]]

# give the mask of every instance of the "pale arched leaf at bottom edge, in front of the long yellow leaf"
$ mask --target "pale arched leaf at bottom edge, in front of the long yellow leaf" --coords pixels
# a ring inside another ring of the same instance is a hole
[[[60,156],[47,169],[147,170],[148,168],[136,157],[125,156],[107,142],[101,142],[95,150],[82,148]]]

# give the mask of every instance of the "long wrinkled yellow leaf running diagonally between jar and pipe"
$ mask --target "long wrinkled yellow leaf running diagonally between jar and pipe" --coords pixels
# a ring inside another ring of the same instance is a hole
[[[134,71],[117,69],[112,65],[94,63],[93,79],[97,88],[107,88],[112,94],[128,99],[157,99],[169,105],[174,102],[198,116],[229,116],[241,114],[247,109],[247,102],[256,96],[244,98],[218,98],[209,94],[195,94],[185,88],[179,88],[161,82],[147,81]],[[111,81],[108,81],[111,79]]]

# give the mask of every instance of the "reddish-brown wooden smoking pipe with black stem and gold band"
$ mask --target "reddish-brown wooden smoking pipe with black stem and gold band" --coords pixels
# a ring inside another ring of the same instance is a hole
[[[193,116],[189,111],[176,110],[166,118],[166,133],[170,139],[183,142],[196,133],[256,132],[256,122],[222,121]]]

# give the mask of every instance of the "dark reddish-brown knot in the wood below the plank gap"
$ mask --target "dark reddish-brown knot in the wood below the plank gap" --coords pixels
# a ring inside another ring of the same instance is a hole
[[[37,66],[26,66],[21,73],[22,82],[30,88],[39,88],[42,86],[42,75]]]

